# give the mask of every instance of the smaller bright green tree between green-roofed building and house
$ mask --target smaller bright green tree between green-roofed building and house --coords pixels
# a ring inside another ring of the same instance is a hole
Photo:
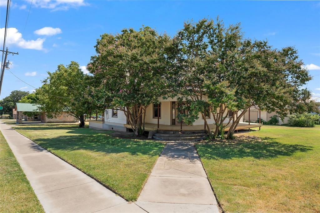
[[[49,118],[65,112],[79,120],[79,127],[84,127],[85,114],[92,108],[88,98],[88,76],[75,61],[66,67],[58,65],[57,70],[48,72],[48,75],[36,90],[40,110],[46,112]]]

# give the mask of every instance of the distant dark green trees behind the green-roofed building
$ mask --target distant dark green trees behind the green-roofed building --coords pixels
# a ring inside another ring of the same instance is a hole
[[[19,102],[21,98],[28,94],[29,92],[26,91],[12,91],[9,96],[0,100],[0,106],[3,106],[3,110],[0,110],[1,114],[9,114],[12,117],[12,108],[16,106],[16,103]]]

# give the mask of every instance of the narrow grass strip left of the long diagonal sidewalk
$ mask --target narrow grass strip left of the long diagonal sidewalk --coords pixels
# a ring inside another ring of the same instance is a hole
[[[0,132],[0,211],[44,212],[36,194]]]

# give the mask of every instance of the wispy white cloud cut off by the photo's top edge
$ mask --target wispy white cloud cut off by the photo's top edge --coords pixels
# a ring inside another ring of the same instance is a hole
[[[31,0],[25,1],[31,2]],[[32,5],[57,11],[68,10],[70,7],[76,8],[79,6],[85,6],[88,5],[88,3],[85,3],[84,0],[33,0]]]

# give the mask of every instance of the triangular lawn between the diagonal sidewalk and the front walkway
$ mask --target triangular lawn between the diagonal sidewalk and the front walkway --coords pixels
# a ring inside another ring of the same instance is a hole
[[[76,124],[16,125],[14,129],[128,201],[138,198],[164,144],[114,138]]]

